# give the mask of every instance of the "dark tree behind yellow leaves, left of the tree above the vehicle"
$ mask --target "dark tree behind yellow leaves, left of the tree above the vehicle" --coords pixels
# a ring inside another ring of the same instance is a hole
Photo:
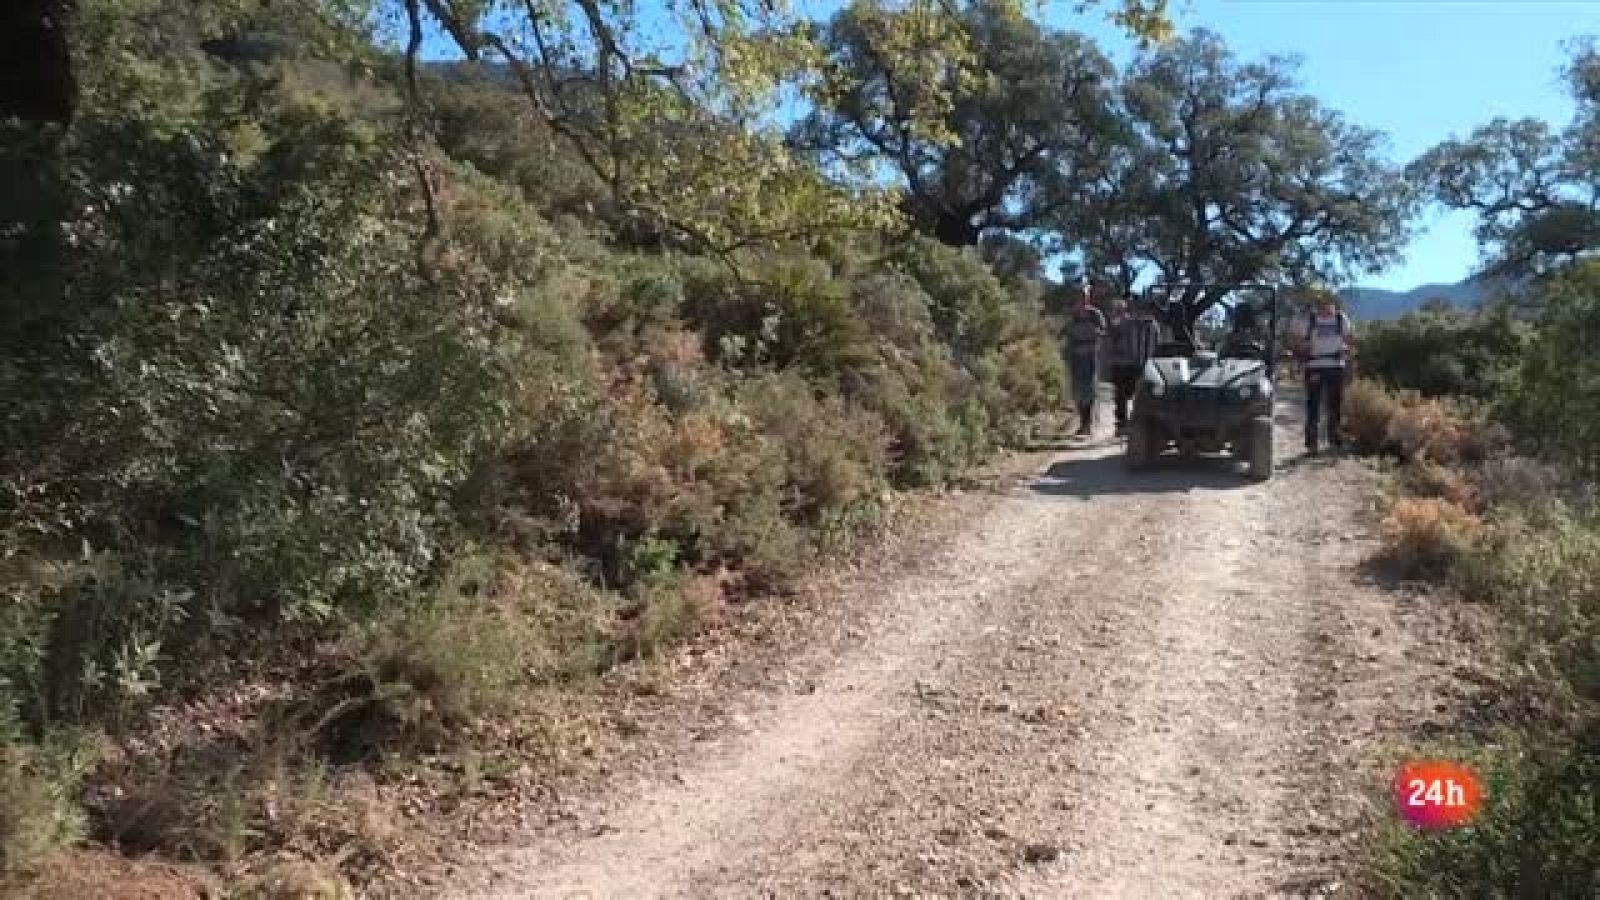
[[[1038,227],[1114,143],[1110,61],[1006,0],[974,0],[925,27],[917,16],[854,3],[834,18],[818,107],[797,143],[826,165],[891,176],[909,219],[944,243]]]

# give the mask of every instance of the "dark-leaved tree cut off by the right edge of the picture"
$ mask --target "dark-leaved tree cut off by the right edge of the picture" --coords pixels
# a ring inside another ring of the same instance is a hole
[[[1600,248],[1600,50],[1579,42],[1565,77],[1578,114],[1562,131],[1494,119],[1418,157],[1408,175],[1478,216],[1483,274],[1542,277]]]

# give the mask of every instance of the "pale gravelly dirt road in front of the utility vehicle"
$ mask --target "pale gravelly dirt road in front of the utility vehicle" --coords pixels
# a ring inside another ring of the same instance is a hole
[[[1370,583],[1373,476],[1130,476],[1110,440],[968,496],[837,586],[731,722],[514,846],[474,897],[1347,890],[1384,741],[1454,703],[1446,628]],[[1283,452],[1286,450],[1286,453]],[[906,557],[909,554],[909,557]]]

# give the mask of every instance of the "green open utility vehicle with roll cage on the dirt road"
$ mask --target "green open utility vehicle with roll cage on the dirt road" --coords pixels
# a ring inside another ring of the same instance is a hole
[[[1251,479],[1270,479],[1277,288],[1158,283],[1146,301],[1157,311],[1163,341],[1133,396],[1128,468],[1146,468],[1176,448],[1181,456],[1229,453]]]

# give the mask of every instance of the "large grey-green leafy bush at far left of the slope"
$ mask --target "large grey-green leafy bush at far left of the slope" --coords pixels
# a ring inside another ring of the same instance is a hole
[[[27,402],[3,423],[0,541],[102,560],[34,596],[43,636],[13,637],[45,649],[8,673],[43,698],[34,717],[86,714],[110,682],[147,697],[186,645],[245,639],[245,621],[283,639],[414,591],[509,415],[520,351],[496,307],[538,272],[506,247],[539,235],[462,215],[424,277],[386,224],[398,159],[293,101],[254,115],[272,139],[250,154],[214,122],[86,122],[59,189],[139,189],[83,197],[67,303],[6,266],[0,391]]]

